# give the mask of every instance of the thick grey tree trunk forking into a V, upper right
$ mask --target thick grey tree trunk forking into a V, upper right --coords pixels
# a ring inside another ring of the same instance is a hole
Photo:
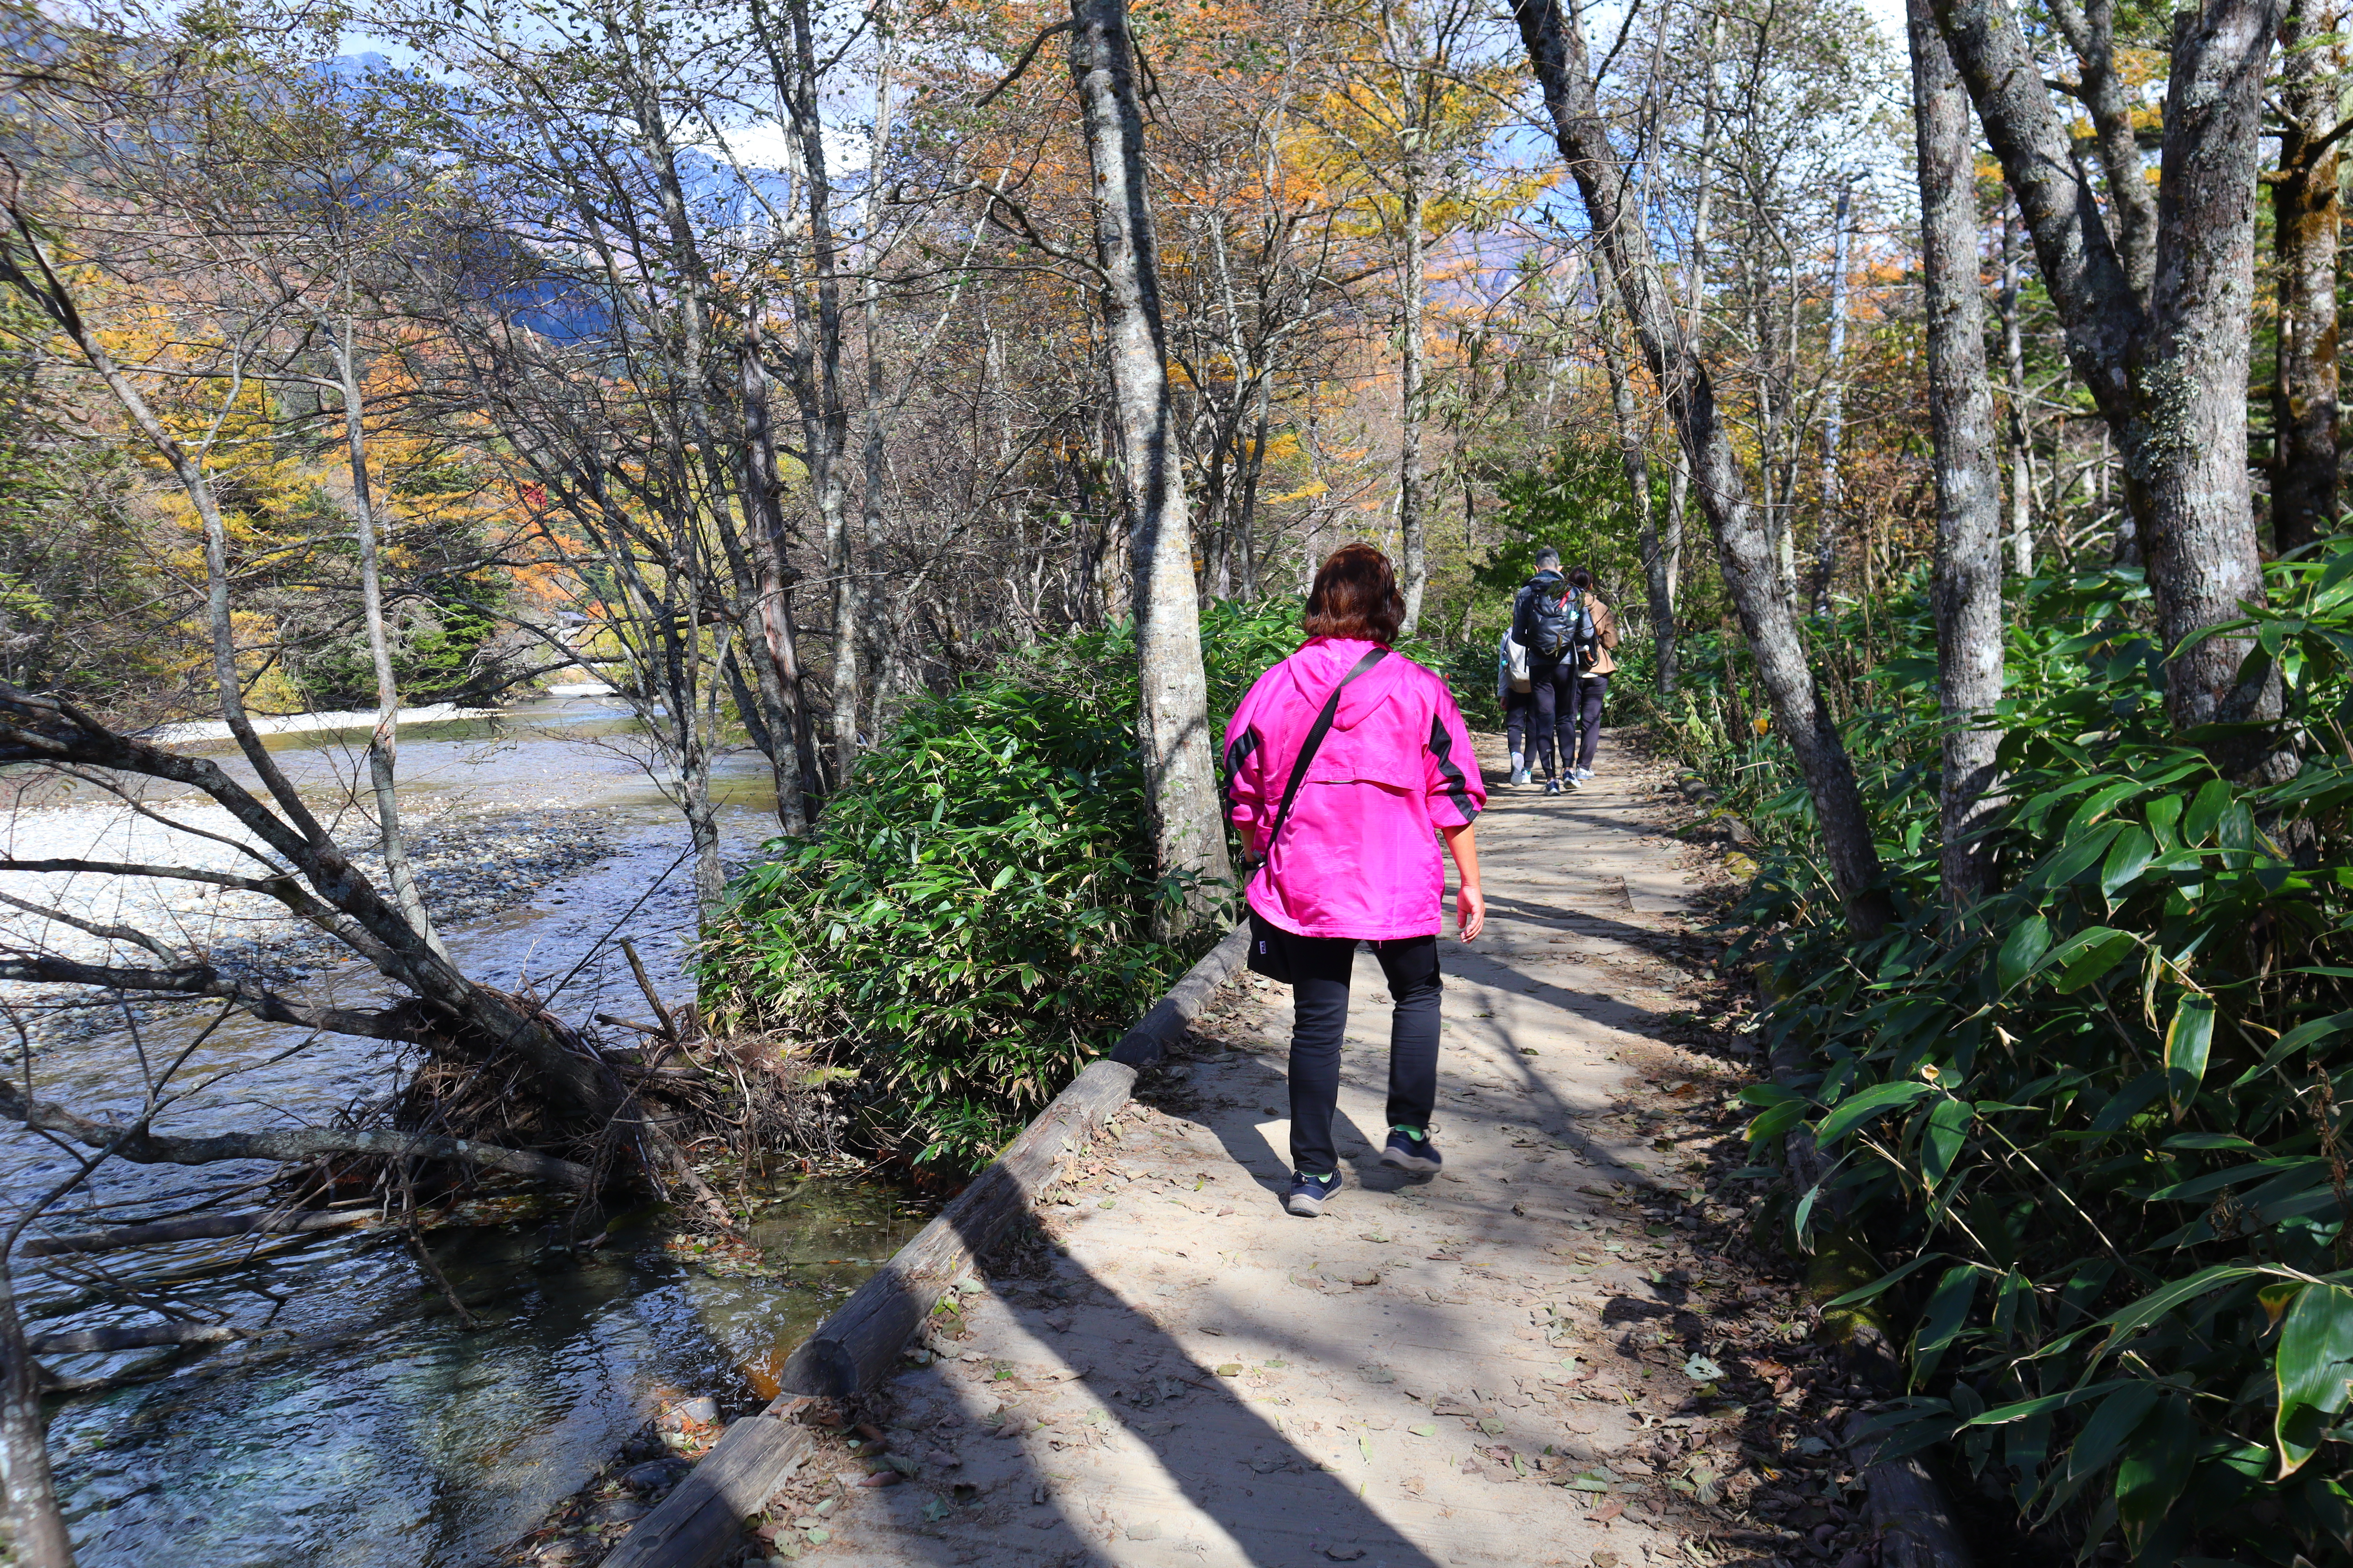
[[[2132,534],[2118,543],[2148,569],[2177,729],[2280,715],[2275,670],[2238,677],[2247,637],[2184,646],[2264,602],[2245,395],[2257,129],[2275,16],[2278,0],[2209,0],[2202,14],[2177,16],[2144,299],[2017,16],[2002,0],[1937,0],[1939,31],[2035,240],[2068,360],[2122,456]],[[2214,741],[2233,771],[2282,766],[2257,750],[2235,736]]]

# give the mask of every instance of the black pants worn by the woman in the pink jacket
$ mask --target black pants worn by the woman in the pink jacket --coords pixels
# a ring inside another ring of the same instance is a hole
[[[1348,1032],[1355,938],[1287,936],[1292,959],[1292,1168],[1339,1171],[1332,1112],[1339,1107],[1339,1044]],[[1388,1018],[1388,1126],[1431,1124],[1438,1105],[1438,938],[1374,943],[1395,1009]],[[1386,1133],[1386,1128],[1384,1128]]]

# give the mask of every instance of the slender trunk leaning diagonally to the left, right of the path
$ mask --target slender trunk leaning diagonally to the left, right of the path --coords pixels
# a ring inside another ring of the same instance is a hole
[[[1513,12],[1537,82],[1544,87],[1560,155],[1577,179],[1586,221],[1626,303],[1649,374],[1666,393],[1675,435],[1692,458],[1699,505],[1722,552],[1725,588],[1739,607],[1741,630],[1772,698],[1774,719],[1814,797],[1831,882],[1847,905],[1854,931],[1866,938],[1878,936],[1887,922],[1887,896],[1878,886],[1880,856],[1854,785],[1854,766],[1805,663],[1788,597],[1777,581],[1772,541],[1748,503],[1748,484],[1732,454],[1722,411],[1715,407],[1708,367],[1673,310],[1652,256],[1649,230],[1626,209],[1626,169],[1593,101],[1584,28],[1574,14],[1562,16],[1558,0],[1515,0]]]

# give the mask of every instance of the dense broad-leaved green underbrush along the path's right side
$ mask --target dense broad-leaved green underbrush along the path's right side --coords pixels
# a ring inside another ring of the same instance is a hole
[[[2353,548],[2273,567],[2259,651],[2287,682],[2289,783],[2226,776],[2249,736],[2169,733],[2132,571],[2038,581],[2000,710],[2000,893],[1939,912],[1925,595],[1817,632],[1880,644],[1842,684],[1897,922],[1857,943],[1809,853],[1786,748],[1739,656],[1694,649],[1652,722],[1760,839],[1734,924],[1774,1001],[1760,1147],[1908,1326],[1899,1448],[1953,1443],[2085,1561],[2353,1552]]]

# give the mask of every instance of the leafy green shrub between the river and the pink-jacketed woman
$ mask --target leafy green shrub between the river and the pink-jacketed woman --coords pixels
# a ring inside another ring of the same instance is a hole
[[[1212,722],[1299,644],[1299,602],[1202,616]],[[807,842],[736,879],[704,954],[720,1027],[781,1030],[880,1147],[984,1164],[1207,950],[1153,938],[1129,628],[918,701]],[[854,1079],[854,1086],[852,1086]]]

